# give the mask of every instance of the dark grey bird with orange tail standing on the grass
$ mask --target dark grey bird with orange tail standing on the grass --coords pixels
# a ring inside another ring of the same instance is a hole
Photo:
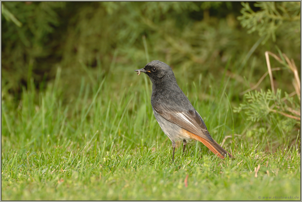
[[[195,110],[189,99],[178,86],[174,73],[169,65],[154,60],[142,69],[134,70],[138,75],[147,74],[152,81],[151,105],[153,114],[163,132],[172,142],[174,162],[175,141],[183,141],[182,156],[187,141],[202,142],[219,158],[234,158],[223,149],[210,135],[202,117]]]

